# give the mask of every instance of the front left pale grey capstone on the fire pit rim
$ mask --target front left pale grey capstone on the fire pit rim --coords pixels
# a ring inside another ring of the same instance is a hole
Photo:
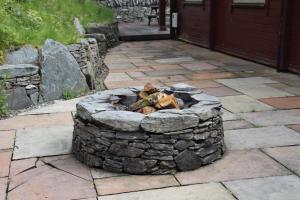
[[[121,131],[138,131],[144,117],[143,114],[129,111],[104,111],[92,115],[96,122]]]

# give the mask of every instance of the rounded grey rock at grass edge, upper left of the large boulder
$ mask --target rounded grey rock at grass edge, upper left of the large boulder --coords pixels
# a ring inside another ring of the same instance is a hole
[[[39,53],[36,48],[25,46],[6,56],[7,64],[37,64]]]

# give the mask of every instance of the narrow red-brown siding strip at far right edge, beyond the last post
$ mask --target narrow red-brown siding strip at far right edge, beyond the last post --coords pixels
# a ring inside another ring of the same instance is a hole
[[[288,10],[287,28],[288,69],[300,72],[300,1],[292,0]]]

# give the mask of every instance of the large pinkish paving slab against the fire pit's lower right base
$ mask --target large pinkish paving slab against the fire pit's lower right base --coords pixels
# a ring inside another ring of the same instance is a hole
[[[259,150],[229,151],[224,158],[175,176],[182,185],[289,175],[290,171]]]

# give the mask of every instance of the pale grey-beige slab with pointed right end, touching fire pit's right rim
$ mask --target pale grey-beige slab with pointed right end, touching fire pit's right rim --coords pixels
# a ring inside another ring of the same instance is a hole
[[[233,113],[258,112],[274,109],[272,106],[246,95],[220,97],[220,101],[226,110]]]

